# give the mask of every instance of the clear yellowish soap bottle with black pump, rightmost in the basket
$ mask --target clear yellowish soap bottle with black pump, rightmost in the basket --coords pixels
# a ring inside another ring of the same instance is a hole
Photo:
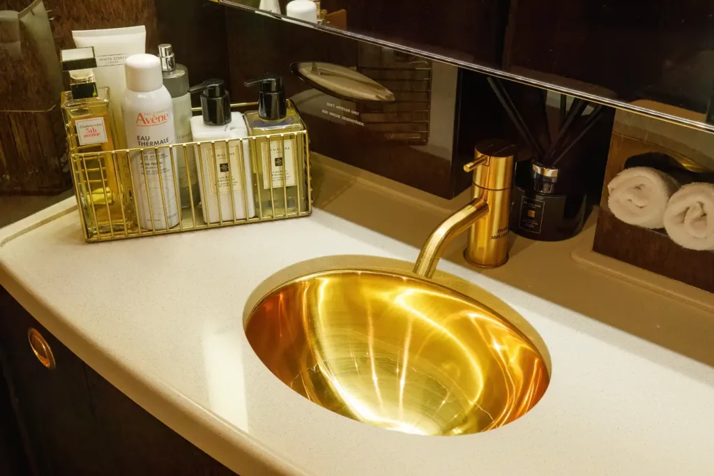
[[[256,160],[256,199],[262,217],[289,217],[307,209],[305,180],[306,134],[298,111],[288,103],[280,76],[267,75],[246,81],[260,86],[258,110],[243,116],[251,141],[251,157]],[[291,134],[292,133],[292,134]],[[266,137],[269,136],[269,137]],[[299,195],[298,195],[299,193]]]

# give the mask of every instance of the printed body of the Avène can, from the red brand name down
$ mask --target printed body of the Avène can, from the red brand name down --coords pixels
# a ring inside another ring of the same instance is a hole
[[[171,167],[171,154],[169,147],[166,147],[176,142],[174,116],[171,109],[169,107],[156,111],[132,111],[129,118],[124,115],[129,147],[158,147],[159,149],[158,153],[151,150],[144,151],[143,154],[131,152],[131,174],[136,187],[139,222],[144,229],[151,229],[152,217],[156,229],[171,228],[178,224],[179,207],[174,185],[178,167],[175,162],[174,167]],[[176,175],[173,173],[174,170]],[[159,174],[161,174],[160,179]],[[151,207],[149,207],[149,200],[151,200]],[[164,219],[164,204],[168,224]]]

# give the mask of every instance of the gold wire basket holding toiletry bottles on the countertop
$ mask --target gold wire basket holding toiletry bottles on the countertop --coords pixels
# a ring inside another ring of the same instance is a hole
[[[231,109],[256,104],[231,104]],[[66,126],[86,242],[270,222],[312,213],[310,150],[304,128],[242,139],[82,153],[74,127]],[[293,151],[289,175],[288,150]],[[281,157],[273,157],[275,151]],[[183,200],[180,169],[188,184]]]

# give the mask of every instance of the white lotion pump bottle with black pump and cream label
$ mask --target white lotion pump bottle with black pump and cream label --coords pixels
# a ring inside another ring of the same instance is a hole
[[[220,223],[255,217],[248,143],[243,143],[241,147],[241,141],[230,140],[248,137],[243,114],[231,112],[231,101],[222,79],[208,79],[188,91],[201,92],[202,114],[191,118],[193,140],[215,141],[213,144],[201,144],[196,151],[203,221]]]

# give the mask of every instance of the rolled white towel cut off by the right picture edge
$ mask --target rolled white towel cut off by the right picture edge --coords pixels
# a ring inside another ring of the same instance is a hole
[[[688,249],[714,250],[714,184],[688,184],[670,198],[665,230]]]

